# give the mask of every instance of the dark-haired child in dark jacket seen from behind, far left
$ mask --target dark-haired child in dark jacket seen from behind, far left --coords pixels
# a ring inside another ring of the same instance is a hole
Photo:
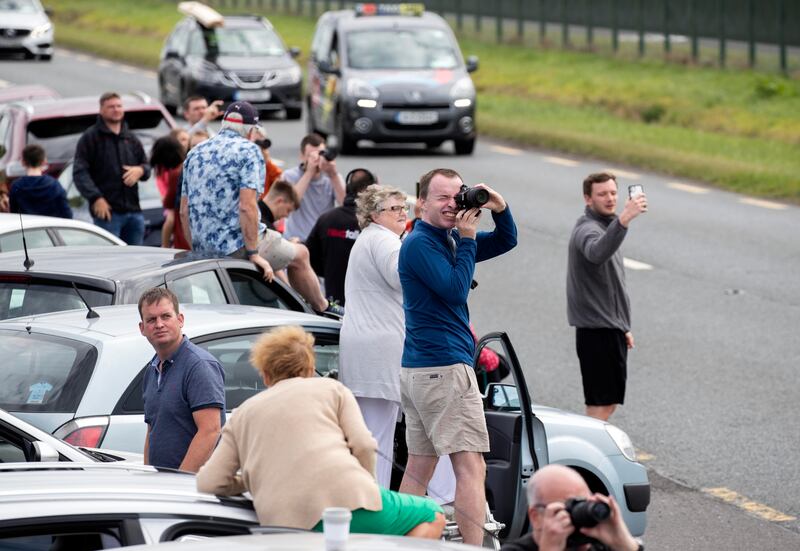
[[[26,176],[15,180],[11,185],[10,211],[72,218],[72,209],[67,203],[64,188],[52,176],[42,174],[46,162],[41,146],[28,145],[22,150],[22,165]]]

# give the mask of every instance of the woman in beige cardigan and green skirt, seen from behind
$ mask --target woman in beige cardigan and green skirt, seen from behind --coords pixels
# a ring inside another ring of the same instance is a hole
[[[197,488],[249,491],[262,525],[321,530],[326,507],[347,507],[354,533],[440,537],[445,520],[438,505],[378,486],[375,439],[353,394],[338,381],[314,377],[313,345],[299,327],[275,329],[256,342],[250,362],[269,388],[228,419],[197,473]]]

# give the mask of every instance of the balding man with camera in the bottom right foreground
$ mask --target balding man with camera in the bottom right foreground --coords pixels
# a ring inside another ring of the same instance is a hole
[[[527,493],[531,533],[506,543],[502,551],[644,550],[625,526],[614,497],[592,494],[574,469],[542,467]]]

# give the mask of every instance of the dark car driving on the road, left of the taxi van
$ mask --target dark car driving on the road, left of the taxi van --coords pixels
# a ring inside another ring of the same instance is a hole
[[[259,111],[303,114],[302,70],[272,25],[259,16],[228,16],[221,27],[203,27],[193,17],[181,20],[161,51],[158,89],[161,102],[179,111],[189,96],[249,101]]]

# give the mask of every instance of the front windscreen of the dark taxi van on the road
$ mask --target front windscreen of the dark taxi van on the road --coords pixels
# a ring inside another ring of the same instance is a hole
[[[351,31],[347,64],[353,69],[455,69],[456,44],[449,33],[430,28]]]

